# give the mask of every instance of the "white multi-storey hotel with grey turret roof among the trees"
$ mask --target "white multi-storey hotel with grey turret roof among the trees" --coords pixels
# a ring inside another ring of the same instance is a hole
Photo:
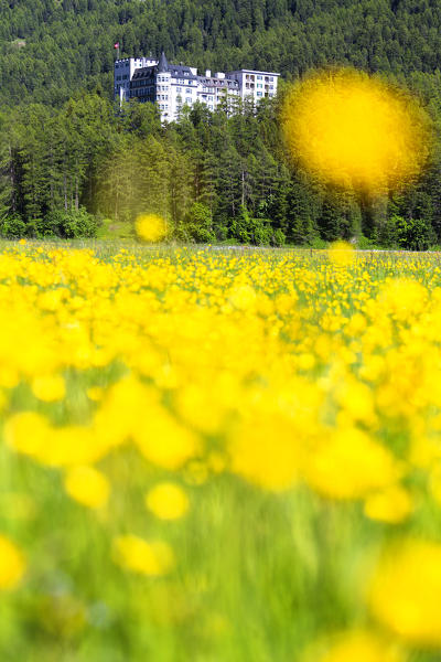
[[[265,97],[275,97],[280,74],[239,70],[198,75],[195,67],[169,64],[165,54],[158,60],[126,57],[115,62],[115,98],[157,103],[162,121],[179,119],[184,105],[196,100],[214,110],[226,103],[234,113],[237,99],[250,99],[255,105]]]

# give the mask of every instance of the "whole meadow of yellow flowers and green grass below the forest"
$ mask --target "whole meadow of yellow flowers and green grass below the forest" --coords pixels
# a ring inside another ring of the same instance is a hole
[[[435,662],[441,258],[0,253],[0,659]]]

